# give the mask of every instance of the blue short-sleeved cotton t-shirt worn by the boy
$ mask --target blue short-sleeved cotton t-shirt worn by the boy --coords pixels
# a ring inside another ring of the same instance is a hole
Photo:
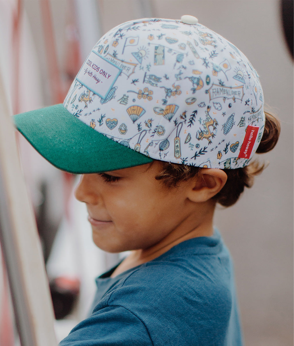
[[[113,268],[114,270],[114,268]],[[110,277],[62,346],[242,345],[233,265],[218,231]]]

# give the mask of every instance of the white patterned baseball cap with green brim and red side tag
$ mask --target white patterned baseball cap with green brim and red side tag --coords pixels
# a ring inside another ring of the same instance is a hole
[[[63,104],[14,116],[57,168],[98,173],[161,160],[236,169],[263,135],[257,72],[228,40],[198,23],[145,18],[93,47]]]

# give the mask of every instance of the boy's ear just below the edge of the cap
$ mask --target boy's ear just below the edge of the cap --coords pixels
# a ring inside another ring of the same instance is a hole
[[[192,180],[188,198],[192,202],[206,202],[226,184],[227,174],[217,168],[202,168]]]

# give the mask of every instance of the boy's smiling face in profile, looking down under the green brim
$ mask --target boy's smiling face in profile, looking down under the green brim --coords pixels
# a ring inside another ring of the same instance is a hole
[[[186,219],[185,183],[167,189],[155,180],[160,163],[148,167],[82,175],[75,196],[86,203],[93,240],[101,249],[121,252],[164,244]]]

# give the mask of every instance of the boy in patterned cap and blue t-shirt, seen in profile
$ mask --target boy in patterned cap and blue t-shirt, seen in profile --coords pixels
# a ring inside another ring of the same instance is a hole
[[[256,71],[197,23],[140,19],[94,46],[63,105],[15,117],[59,169],[83,174],[94,243],[131,253],[97,279],[61,345],[242,345],[230,255],[212,220],[272,149]]]

